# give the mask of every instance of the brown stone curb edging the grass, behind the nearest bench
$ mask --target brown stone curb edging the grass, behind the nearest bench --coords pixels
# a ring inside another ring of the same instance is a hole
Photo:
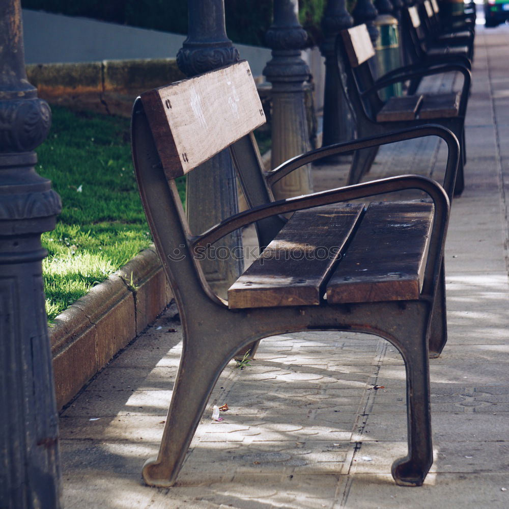
[[[149,248],[59,314],[49,329],[58,409],[172,298],[157,253]]]

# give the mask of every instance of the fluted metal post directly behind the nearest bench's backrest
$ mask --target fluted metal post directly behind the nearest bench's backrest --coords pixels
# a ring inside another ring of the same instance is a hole
[[[177,55],[179,68],[194,76],[239,60],[239,52],[228,39],[223,0],[189,0],[189,31]],[[187,176],[187,216],[193,233],[201,233],[238,211],[237,182],[230,152],[224,150]],[[239,232],[224,237],[205,260],[204,269],[212,289],[225,290],[243,271]]]

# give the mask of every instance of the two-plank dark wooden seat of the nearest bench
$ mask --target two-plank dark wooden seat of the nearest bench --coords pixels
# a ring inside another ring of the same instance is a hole
[[[228,290],[232,309],[417,300],[433,205],[327,205],[295,212]]]

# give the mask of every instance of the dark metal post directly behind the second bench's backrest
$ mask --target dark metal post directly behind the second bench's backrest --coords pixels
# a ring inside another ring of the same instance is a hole
[[[341,143],[353,138],[352,115],[337,73],[335,40],[337,35],[353,24],[345,0],[328,0],[322,19],[324,41],[320,51],[325,58],[325,90],[323,106],[322,146]],[[336,156],[333,159],[340,159]],[[332,162],[331,158],[327,162]]]

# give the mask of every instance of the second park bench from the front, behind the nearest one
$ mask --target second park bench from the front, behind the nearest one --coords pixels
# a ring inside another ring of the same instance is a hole
[[[364,138],[383,135],[396,129],[429,122],[450,129],[460,140],[462,150],[455,188],[455,194],[461,194],[464,188],[463,166],[466,162],[464,124],[470,90],[470,71],[460,64],[410,65],[390,71],[375,80],[370,67],[370,60],[375,57],[375,49],[364,24],[343,30],[338,35],[336,56],[357,136]],[[385,102],[378,94],[378,91],[393,83],[444,72],[462,73],[461,91],[397,96]],[[374,146],[355,152],[348,183],[359,182],[370,170],[377,151],[378,147]]]

